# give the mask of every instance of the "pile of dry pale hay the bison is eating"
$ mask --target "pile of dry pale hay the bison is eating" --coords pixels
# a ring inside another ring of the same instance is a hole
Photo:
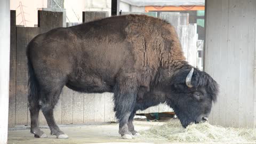
[[[190,124],[184,129],[179,121],[151,127],[141,132],[144,138],[159,138],[172,142],[256,142],[256,129],[235,129],[209,123]]]

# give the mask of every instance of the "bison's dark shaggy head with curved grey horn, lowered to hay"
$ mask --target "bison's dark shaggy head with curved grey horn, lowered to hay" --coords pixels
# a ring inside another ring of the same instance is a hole
[[[207,121],[218,94],[218,84],[209,74],[182,68],[164,87],[166,103],[174,109],[183,127]]]

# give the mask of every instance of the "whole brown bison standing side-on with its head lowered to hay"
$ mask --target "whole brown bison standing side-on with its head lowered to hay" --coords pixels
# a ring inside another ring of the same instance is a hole
[[[137,110],[159,103],[174,109],[183,127],[207,121],[217,99],[214,79],[189,65],[174,27],[146,15],[122,15],[56,28],[28,45],[31,133],[42,110],[51,134],[68,138],[54,121],[63,86],[85,93],[114,93],[119,133],[139,135],[132,124]]]

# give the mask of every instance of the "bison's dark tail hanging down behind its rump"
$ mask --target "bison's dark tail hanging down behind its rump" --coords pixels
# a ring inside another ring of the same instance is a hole
[[[38,82],[35,76],[34,68],[31,63],[31,55],[29,53],[29,49],[31,46],[31,42],[27,46],[27,58],[28,58],[28,101],[29,106],[31,102],[38,102]]]

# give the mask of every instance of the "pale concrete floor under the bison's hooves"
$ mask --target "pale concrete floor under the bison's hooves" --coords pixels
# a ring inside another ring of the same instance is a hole
[[[144,131],[153,125],[162,125],[165,122],[146,122],[134,121],[134,126],[137,131]],[[50,129],[44,126],[42,129],[48,138],[34,138],[30,133],[29,127],[16,127],[14,130],[9,130],[8,143],[15,144],[42,144],[42,143],[101,143],[101,142],[148,142],[148,143],[168,143],[167,141],[159,141],[156,139],[145,139],[137,137],[132,140],[124,140],[118,134],[118,124],[85,124],[85,125],[59,125],[60,129],[65,132],[69,139],[57,139],[55,135],[50,135]],[[27,128],[27,129],[26,129]]]

